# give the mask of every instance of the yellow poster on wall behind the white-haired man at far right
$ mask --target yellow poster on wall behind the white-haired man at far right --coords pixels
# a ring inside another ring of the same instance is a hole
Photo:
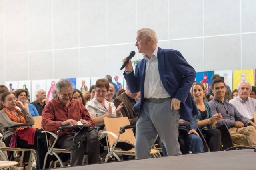
[[[237,89],[237,85],[241,81],[248,81],[251,85],[254,85],[254,69],[234,70],[233,89]]]

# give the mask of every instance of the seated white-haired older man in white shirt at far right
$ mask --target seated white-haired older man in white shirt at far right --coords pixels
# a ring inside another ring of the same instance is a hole
[[[253,114],[256,113],[256,99],[249,97],[252,86],[247,81],[238,83],[238,96],[230,100],[238,112],[248,119],[253,119]]]

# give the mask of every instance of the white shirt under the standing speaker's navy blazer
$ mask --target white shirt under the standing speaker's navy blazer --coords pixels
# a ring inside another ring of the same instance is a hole
[[[163,83],[160,79],[157,52],[158,47],[154,50],[151,59],[148,59],[146,54],[144,54],[144,59],[146,59],[144,98],[161,99],[170,97],[168,92],[164,89]]]

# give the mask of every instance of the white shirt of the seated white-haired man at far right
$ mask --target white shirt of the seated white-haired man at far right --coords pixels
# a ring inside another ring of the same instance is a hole
[[[247,97],[246,102],[244,102],[239,95],[229,101],[232,103],[241,115],[248,119],[253,118],[253,114],[256,113],[256,99]]]

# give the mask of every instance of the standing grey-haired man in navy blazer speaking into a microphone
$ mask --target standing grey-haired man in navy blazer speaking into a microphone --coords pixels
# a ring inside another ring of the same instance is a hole
[[[140,91],[141,94],[136,158],[151,158],[150,150],[157,134],[168,156],[180,155],[178,121],[180,117],[190,120],[198,114],[189,93],[196,72],[179,51],[158,47],[156,33],[150,28],[138,30],[135,45],[139,53],[144,53],[144,59],[135,71],[130,60],[124,67],[124,77],[131,93]]]

